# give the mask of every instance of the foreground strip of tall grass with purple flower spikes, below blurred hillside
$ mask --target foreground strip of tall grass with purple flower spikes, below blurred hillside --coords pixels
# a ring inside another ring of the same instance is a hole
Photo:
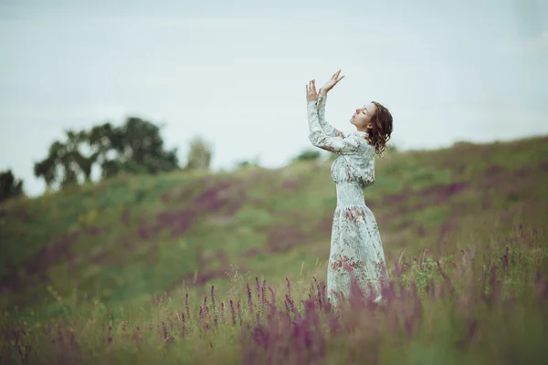
[[[332,308],[325,265],[270,283],[237,270],[207,294],[180,290],[146,308],[75,294],[55,311],[2,314],[0,363],[545,363],[545,227],[389,263],[375,304],[353,286]],[[130,284],[131,285],[131,284]]]

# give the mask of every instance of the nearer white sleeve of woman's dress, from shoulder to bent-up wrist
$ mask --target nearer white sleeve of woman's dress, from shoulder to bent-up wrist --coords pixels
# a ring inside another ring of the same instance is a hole
[[[316,101],[307,102],[309,141],[315,147],[338,154],[352,154],[360,149],[361,143],[354,136],[333,137],[321,129]]]

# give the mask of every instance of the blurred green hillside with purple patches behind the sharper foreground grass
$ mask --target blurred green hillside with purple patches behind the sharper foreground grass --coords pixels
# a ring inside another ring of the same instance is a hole
[[[47,287],[118,303],[227,280],[231,265],[284,277],[325,262],[332,161],[206,174],[120,176],[0,205],[2,307]],[[548,137],[390,152],[365,191],[389,268],[445,245],[548,222]]]

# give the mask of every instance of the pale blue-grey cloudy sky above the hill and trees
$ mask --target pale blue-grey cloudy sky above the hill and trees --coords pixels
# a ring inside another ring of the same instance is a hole
[[[43,193],[49,145],[129,116],[186,162],[285,165],[308,140],[305,86],[338,69],[326,119],[393,114],[400,149],[548,133],[548,2],[0,0],[0,171]],[[329,173],[329,172],[326,172]]]

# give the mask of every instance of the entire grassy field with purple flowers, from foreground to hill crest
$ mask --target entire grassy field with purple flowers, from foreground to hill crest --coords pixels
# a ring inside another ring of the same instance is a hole
[[[547,136],[379,159],[385,301],[337,310],[331,162],[0,205],[0,363],[546,363]]]

